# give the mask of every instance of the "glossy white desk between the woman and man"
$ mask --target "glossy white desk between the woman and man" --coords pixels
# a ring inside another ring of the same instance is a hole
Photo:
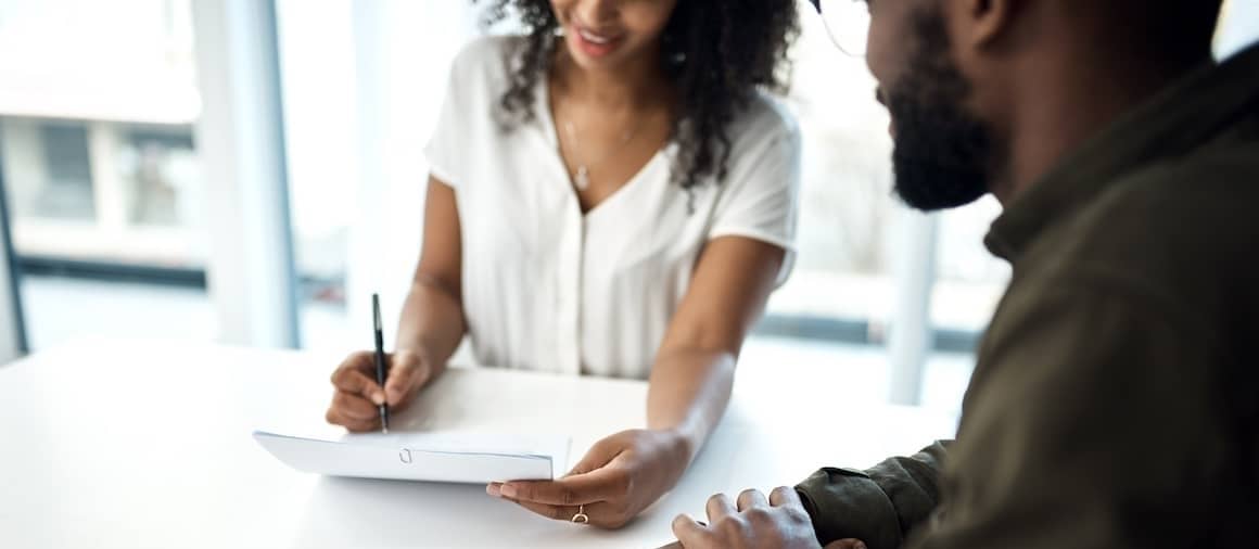
[[[671,539],[716,491],[791,485],[949,437],[956,418],[844,403],[842,380],[789,365],[735,384],[679,487],[619,531],[555,523],[483,486],[322,478],[254,443],[259,424],[320,428],[340,356],[156,341],[84,341],[0,366],[0,546],[633,546]],[[574,433],[643,423],[646,385],[452,370],[398,428]],[[823,421],[822,418],[830,421]],[[330,427],[324,427],[329,428]],[[816,433],[830,436],[818,441]]]

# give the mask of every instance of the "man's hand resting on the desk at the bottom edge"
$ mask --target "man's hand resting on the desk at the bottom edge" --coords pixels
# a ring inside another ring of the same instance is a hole
[[[738,504],[738,507],[735,507]],[[690,516],[674,519],[674,535],[687,549],[818,549],[813,521],[794,489],[769,494],[745,490],[731,502],[725,494],[708,501],[708,524]],[[857,540],[835,541],[826,549],[865,549]]]

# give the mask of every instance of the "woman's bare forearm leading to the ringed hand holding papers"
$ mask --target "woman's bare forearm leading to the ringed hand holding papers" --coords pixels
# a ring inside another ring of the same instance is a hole
[[[679,436],[686,463],[699,453],[725,413],[735,358],[724,350],[661,353],[647,389],[647,428]]]

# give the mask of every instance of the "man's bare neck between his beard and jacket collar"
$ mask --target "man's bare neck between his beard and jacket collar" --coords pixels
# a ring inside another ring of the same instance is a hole
[[[1156,68],[1121,59],[1073,63],[1068,55],[1029,64],[1031,77],[1013,87],[1022,101],[1011,112],[1008,161],[992,193],[1007,205],[1085,141],[1196,65]]]

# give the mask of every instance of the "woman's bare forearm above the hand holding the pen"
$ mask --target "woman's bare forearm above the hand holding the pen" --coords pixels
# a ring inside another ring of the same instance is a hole
[[[458,349],[465,331],[460,297],[434,278],[418,276],[398,321],[397,348],[414,351],[442,368]]]

